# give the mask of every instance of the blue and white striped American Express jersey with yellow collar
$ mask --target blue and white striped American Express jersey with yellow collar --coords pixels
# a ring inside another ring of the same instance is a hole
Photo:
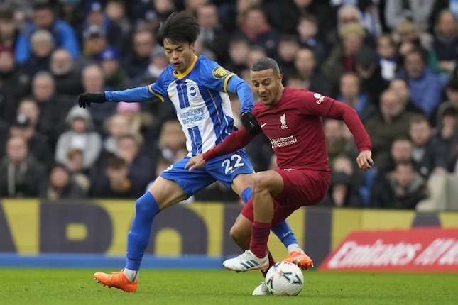
[[[170,100],[187,139],[188,156],[202,153],[236,131],[227,83],[235,74],[205,56],[195,56],[190,67],[177,74],[171,65],[149,91]]]

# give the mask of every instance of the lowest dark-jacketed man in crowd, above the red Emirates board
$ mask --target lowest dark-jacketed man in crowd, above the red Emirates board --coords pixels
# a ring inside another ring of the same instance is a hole
[[[428,196],[425,180],[415,172],[411,162],[400,162],[381,184],[374,186],[371,204],[374,208],[415,209]]]

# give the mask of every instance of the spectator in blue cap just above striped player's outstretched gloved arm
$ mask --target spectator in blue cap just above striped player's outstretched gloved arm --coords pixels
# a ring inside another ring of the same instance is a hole
[[[120,65],[119,50],[113,47],[105,48],[100,53],[100,66],[104,72],[105,89],[124,90],[131,87],[131,79]]]

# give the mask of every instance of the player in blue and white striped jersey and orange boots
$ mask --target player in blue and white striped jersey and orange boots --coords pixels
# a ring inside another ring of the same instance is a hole
[[[187,199],[216,180],[233,189],[244,202],[251,198],[254,171],[244,149],[215,158],[200,170],[189,172],[185,169],[190,157],[222,143],[230,133],[236,131],[228,91],[239,96],[241,121],[246,130],[258,127],[251,115],[251,87],[234,73],[220,67],[217,62],[195,55],[194,43],[199,33],[200,25],[190,14],[171,14],[161,23],[158,32],[158,42],[164,47],[170,65],[155,83],[124,91],[85,93],[78,98],[80,107],[84,108],[92,103],[103,102],[153,99],[171,102],[186,135],[189,151],[185,159],[170,165],[151,188],[137,199],[135,217],[127,236],[126,267],[121,272],[111,275],[102,272],[94,274],[98,282],[109,287],[136,292],[138,270],[151,237],[153,218],[161,210]],[[298,265],[305,263],[301,267],[311,264],[310,258],[300,249],[288,223],[280,223],[273,232],[288,248],[288,257],[299,257]],[[273,262],[273,259],[271,261]]]

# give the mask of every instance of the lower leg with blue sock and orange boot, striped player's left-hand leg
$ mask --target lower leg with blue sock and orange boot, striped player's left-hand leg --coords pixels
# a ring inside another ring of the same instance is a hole
[[[121,289],[124,292],[136,292],[141,259],[151,238],[153,218],[159,211],[158,203],[150,192],[146,192],[137,199],[131,231],[127,235],[126,267],[121,272],[111,274],[95,273],[94,278],[97,282],[108,287]]]

